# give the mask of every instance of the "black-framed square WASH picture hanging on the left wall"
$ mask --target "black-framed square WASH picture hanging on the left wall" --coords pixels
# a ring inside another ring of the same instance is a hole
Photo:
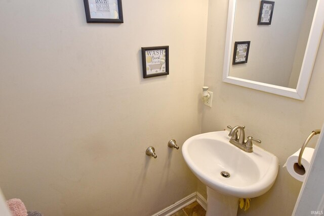
[[[143,78],[169,75],[169,46],[142,47]]]

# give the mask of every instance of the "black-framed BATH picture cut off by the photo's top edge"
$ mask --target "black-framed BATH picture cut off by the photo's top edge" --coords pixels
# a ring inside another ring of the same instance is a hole
[[[115,2],[116,5],[114,6],[111,2]],[[84,0],[84,3],[87,23],[124,23],[121,0]],[[110,8],[111,6],[117,7],[117,10]],[[93,13],[95,15],[92,15]],[[104,17],[105,14],[111,15],[112,13],[117,15],[116,19]]]

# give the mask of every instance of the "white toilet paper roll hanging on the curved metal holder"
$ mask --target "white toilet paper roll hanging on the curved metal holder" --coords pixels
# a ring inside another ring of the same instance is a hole
[[[294,177],[295,179],[303,182],[306,178],[306,172],[309,170],[310,161],[312,159],[314,149],[313,148],[305,148],[303,155],[302,155],[302,168],[298,165],[298,156],[299,156],[300,149],[296,151],[293,155],[287,158],[287,162],[284,167],[287,166],[287,170],[289,174]]]

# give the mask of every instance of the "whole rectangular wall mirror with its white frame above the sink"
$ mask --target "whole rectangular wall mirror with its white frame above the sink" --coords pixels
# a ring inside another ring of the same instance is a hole
[[[259,9],[254,0],[229,0],[223,81],[304,100],[324,27],[324,0],[277,1],[271,25],[258,25]],[[244,64],[233,64],[235,41],[250,41]]]

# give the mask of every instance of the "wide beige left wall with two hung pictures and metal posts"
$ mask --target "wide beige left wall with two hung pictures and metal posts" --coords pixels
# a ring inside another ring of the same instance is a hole
[[[151,215],[196,191],[180,150],[201,130],[208,1],[123,0],[124,24],[83,1],[0,7],[0,187],[44,215]],[[170,75],[142,78],[142,46]],[[154,146],[157,158],[145,155]]]

